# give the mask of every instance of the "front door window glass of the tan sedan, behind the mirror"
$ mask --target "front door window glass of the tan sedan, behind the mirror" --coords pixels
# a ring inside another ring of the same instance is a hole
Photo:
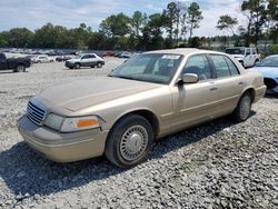
[[[192,56],[188,58],[182,73],[195,73],[199,80],[211,79],[211,72],[208,59],[205,54]]]

